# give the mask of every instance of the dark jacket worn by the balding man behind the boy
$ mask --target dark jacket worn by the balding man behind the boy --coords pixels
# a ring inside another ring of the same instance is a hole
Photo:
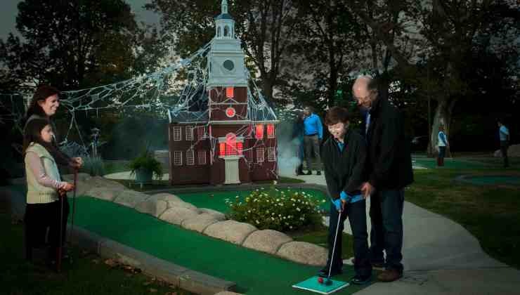
[[[396,190],[413,182],[403,116],[381,93],[370,109],[366,139],[368,181],[372,186],[377,190]]]

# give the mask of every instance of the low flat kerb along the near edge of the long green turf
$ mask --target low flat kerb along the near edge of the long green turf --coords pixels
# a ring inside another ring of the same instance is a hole
[[[143,273],[164,280],[176,287],[197,294],[216,294],[223,291],[235,291],[236,283],[189,270],[180,265],[151,256],[114,240],[101,237],[84,228],[67,225],[72,235],[71,242],[98,254],[103,258],[112,258],[119,263],[139,268]]]

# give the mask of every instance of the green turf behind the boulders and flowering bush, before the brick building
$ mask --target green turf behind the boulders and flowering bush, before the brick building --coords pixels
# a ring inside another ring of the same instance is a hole
[[[298,192],[306,192],[308,195],[311,195],[312,197],[328,199],[327,196],[319,190],[301,190],[295,188],[292,188],[291,190]],[[285,191],[287,192],[287,190]],[[184,202],[191,203],[197,206],[198,208],[209,208],[225,214],[228,212],[229,209],[225,202],[226,198],[234,199],[235,196],[245,198],[251,192],[251,190],[239,190],[235,192],[193,192],[175,195],[183,199]],[[321,208],[325,211],[328,211],[330,209],[330,204],[328,202],[325,202],[321,205]]]

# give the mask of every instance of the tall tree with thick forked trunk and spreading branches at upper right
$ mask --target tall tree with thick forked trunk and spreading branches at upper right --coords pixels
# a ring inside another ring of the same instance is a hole
[[[436,82],[428,85],[433,86],[429,88],[433,89],[432,98],[436,100],[430,138],[430,147],[435,146],[438,126],[443,124],[449,134],[455,103],[469,95],[469,81],[463,72],[471,67],[467,61],[475,46],[478,46],[476,37],[494,23],[503,22],[502,15],[510,8],[502,1],[494,0],[386,0],[378,1],[377,5],[370,1],[375,10],[386,11],[387,15],[392,12],[398,15],[397,18],[388,19],[369,15],[363,9],[367,3],[353,0],[349,7],[386,46],[405,77],[424,78],[431,75]],[[419,44],[418,52],[406,51],[403,47],[404,41],[412,38],[416,39],[415,44]],[[426,73],[424,67],[417,67],[419,55],[424,55],[429,64]]]

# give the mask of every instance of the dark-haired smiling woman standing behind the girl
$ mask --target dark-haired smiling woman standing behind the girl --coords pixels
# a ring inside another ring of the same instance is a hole
[[[51,125],[51,129],[53,130],[53,136],[50,143],[52,148],[48,148],[48,152],[53,157],[56,164],[58,164],[58,168],[60,168],[60,174],[63,174],[63,169],[79,169],[83,165],[83,160],[81,157],[69,157],[64,152],[61,152],[58,147],[58,135],[56,132],[56,125],[52,122],[51,117],[56,114],[58,107],[60,106],[60,91],[52,86],[40,86],[36,92],[34,92],[34,96],[32,96],[32,100],[30,102],[29,108],[27,109],[27,113],[25,115],[26,121],[24,126],[24,135],[28,132],[27,126],[30,125],[30,122],[36,119],[46,119]],[[63,192],[65,194],[65,192]],[[65,211],[63,212],[63,220],[61,224],[63,225],[63,244],[65,244],[65,232],[67,229],[67,219],[69,216],[69,203],[67,197],[65,195],[64,198]],[[63,246],[62,244],[62,246]],[[65,252],[64,252],[65,253]]]

